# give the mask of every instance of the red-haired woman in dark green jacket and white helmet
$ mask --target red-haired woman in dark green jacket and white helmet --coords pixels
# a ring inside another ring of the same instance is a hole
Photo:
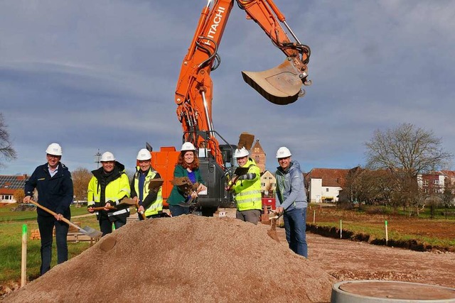
[[[171,194],[168,197],[169,210],[172,216],[181,216],[182,214],[189,214],[190,209],[188,206],[182,206],[189,201],[189,199],[196,199],[198,192],[207,190],[204,185],[204,180],[200,176],[199,160],[196,155],[196,148],[191,142],[185,142],[182,145],[180,155],[178,155],[178,162],[176,168],[173,170],[173,177],[188,177],[193,184],[199,183],[196,191],[191,195],[183,192],[176,185],[173,186]]]

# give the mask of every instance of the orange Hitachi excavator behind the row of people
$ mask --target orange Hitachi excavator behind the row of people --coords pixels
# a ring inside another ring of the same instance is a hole
[[[183,142],[191,142],[198,149],[200,171],[208,187],[198,195],[195,212],[213,216],[218,206],[229,206],[233,197],[225,184],[235,172],[232,157],[237,145],[231,145],[213,128],[213,83],[210,72],[220,65],[218,48],[234,3],[255,21],[270,38],[272,44],[282,50],[286,59],[281,65],[263,72],[242,71],[247,84],[265,99],[277,105],[291,104],[304,96],[302,86],[311,84],[308,78],[310,48],[302,44],[289,28],[284,14],[273,0],[208,0],[203,7],[193,40],[183,58],[174,101],[177,118],[183,128]],[[294,41],[289,39],[287,28]],[[222,143],[220,144],[220,141]],[[171,192],[173,169],[178,150],[173,146],[161,147],[151,152],[151,165],[164,179],[163,197]]]

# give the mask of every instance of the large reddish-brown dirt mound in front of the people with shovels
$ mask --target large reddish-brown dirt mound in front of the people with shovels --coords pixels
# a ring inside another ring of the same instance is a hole
[[[329,302],[333,277],[267,226],[179,216],[136,221],[6,302]]]

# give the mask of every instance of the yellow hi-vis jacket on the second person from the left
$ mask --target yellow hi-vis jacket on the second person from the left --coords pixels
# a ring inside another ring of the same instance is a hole
[[[115,202],[115,204],[119,204],[119,199],[123,197],[129,198],[129,180],[128,176],[124,173],[120,175],[115,180],[112,180],[106,185],[105,189],[105,200]],[[98,185],[98,180],[95,176],[90,179],[88,183],[87,189],[87,206],[102,206],[100,202],[100,195],[101,195],[101,187]],[[112,205],[115,206],[115,205]],[[124,214],[129,212],[129,209],[121,209],[119,211],[109,212],[109,215],[117,215],[117,214]]]

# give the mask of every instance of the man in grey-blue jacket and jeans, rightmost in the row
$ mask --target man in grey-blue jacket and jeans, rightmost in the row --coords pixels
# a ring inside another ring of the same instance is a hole
[[[294,253],[308,258],[306,244],[306,194],[304,175],[299,162],[291,160],[291,151],[286,147],[277,150],[279,167],[275,172],[277,189],[275,203],[277,213],[283,214],[286,240]]]

